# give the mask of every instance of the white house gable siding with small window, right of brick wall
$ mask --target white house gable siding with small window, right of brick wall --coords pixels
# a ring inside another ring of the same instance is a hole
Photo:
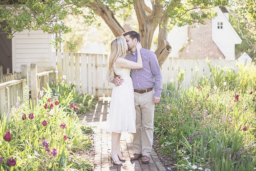
[[[228,59],[232,60],[235,58],[235,44],[242,42],[235,29],[232,27],[227,17],[217,7],[216,11],[218,16],[212,19],[212,40],[221,50],[223,55]],[[218,22],[223,23],[223,29],[218,29]]]

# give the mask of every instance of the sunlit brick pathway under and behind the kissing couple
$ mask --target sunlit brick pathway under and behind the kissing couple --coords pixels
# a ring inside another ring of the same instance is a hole
[[[99,103],[94,111],[79,116],[79,120],[83,124],[89,124],[93,127],[96,135],[94,158],[96,166],[94,171],[166,171],[154,149],[152,149],[148,164],[142,163],[141,160],[130,160],[130,157],[134,154],[131,147],[132,133],[122,133],[121,136],[120,146],[126,162],[123,162],[122,165],[113,165],[113,163],[111,165],[110,158],[108,157],[111,151],[111,133],[105,131],[109,103],[109,98],[99,99]]]

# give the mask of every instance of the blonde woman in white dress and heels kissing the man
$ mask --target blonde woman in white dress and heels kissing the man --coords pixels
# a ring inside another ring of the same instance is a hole
[[[136,44],[138,59],[137,62],[125,59],[128,45],[125,38],[118,37],[111,43],[111,54],[108,59],[107,79],[113,82],[116,75],[123,79],[122,85],[113,87],[111,103],[108,113],[107,132],[111,132],[111,163],[122,165],[125,158],[120,151],[120,137],[122,131],[136,133],[135,128],[135,107],[134,107],[134,88],[130,77],[131,69],[143,67],[140,55],[141,44]],[[122,161],[122,162],[121,162]]]

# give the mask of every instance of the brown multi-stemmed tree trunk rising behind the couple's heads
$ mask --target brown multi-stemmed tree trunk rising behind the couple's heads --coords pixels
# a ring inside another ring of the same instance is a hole
[[[141,45],[143,48],[151,48],[154,32],[157,26],[159,26],[158,47],[155,54],[157,55],[159,66],[161,67],[172,48],[167,41],[167,30],[164,29],[167,26],[166,21],[168,20],[168,17],[163,17],[164,10],[160,1],[161,0],[155,0],[154,3],[152,3],[152,11],[149,15],[146,14],[144,0],[134,0],[134,9],[138,19],[139,34],[141,36]],[[121,36],[125,30],[116,20],[114,16],[115,12],[111,11],[106,6],[99,6],[99,2],[100,0],[94,0],[89,3],[87,7],[93,8],[94,12],[102,17],[116,37]],[[161,25],[159,25],[160,18]]]

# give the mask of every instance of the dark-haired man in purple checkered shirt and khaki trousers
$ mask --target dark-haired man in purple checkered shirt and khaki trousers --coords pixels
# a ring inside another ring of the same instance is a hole
[[[136,43],[140,41],[140,34],[135,31],[129,31],[122,35],[125,37],[130,51],[126,54],[125,59],[136,62]],[[142,162],[148,163],[153,145],[154,104],[159,103],[163,87],[156,54],[143,48],[140,53],[143,68],[131,70],[136,110],[136,133],[134,133],[132,142],[134,155],[131,156],[131,160],[137,160],[142,157]],[[119,86],[122,84],[122,79],[119,79],[119,77],[114,78],[114,84]]]

